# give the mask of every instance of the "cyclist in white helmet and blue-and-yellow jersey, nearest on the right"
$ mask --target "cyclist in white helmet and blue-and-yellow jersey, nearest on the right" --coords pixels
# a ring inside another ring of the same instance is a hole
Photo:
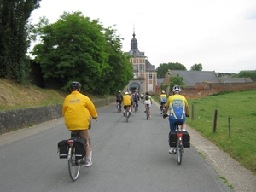
[[[189,117],[189,104],[185,96],[180,95],[181,88],[179,85],[174,85],[172,88],[172,96],[169,96],[166,102],[166,110],[163,114],[163,118],[166,118],[166,114],[169,114],[169,126],[171,131],[175,131],[175,123],[183,122],[181,125],[182,131],[186,131],[186,117]],[[174,148],[170,148],[169,154],[174,154]]]

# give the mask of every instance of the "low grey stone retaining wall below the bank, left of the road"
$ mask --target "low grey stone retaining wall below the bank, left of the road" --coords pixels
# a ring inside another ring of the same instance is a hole
[[[115,98],[93,100],[96,108],[115,102]],[[61,104],[0,111],[0,134],[61,118]]]

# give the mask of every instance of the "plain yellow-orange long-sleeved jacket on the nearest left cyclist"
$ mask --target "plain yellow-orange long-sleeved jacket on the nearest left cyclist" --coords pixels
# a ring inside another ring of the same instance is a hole
[[[87,130],[90,116],[97,118],[96,108],[88,96],[75,90],[62,104],[62,114],[68,130]]]

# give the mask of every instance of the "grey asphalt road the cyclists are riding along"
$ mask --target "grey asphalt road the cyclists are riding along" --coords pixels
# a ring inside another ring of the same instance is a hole
[[[57,143],[69,137],[64,119],[0,136],[0,191],[232,191],[193,146],[177,164],[158,106],[146,120],[140,104],[128,123],[114,103],[97,111],[90,130],[93,165],[81,167],[76,182],[57,154]]]

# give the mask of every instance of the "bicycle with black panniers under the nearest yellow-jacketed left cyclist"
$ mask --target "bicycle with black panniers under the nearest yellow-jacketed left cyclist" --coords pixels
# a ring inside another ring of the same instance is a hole
[[[89,129],[91,128],[91,123]],[[73,181],[79,177],[80,166],[85,163],[86,139],[79,137],[79,130],[71,131],[71,138],[62,140],[58,143],[58,151],[60,159],[67,159],[68,174]],[[91,139],[89,137],[90,145],[90,161],[92,159]]]

